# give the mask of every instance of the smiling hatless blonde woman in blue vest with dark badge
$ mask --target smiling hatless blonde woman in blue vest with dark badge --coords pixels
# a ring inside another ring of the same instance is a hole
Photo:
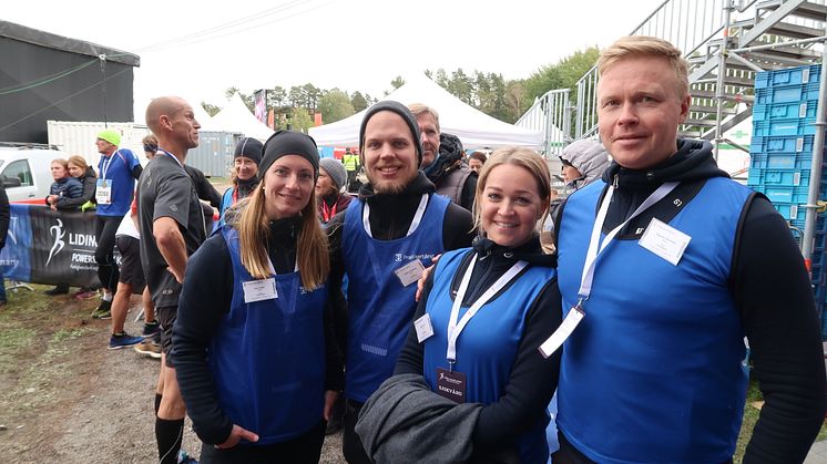
[[[548,165],[533,151],[489,158],[473,212],[481,237],[440,258],[396,365],[395,374],[421,374],[433,392],[483,405],[469,437],[471,462],[496,453],[522,463],[549,457],[545,405],[559,354],[544,359],[538,347],[560,324],[561,308],[555,258],[543,252],[537,224],[550,193]]]

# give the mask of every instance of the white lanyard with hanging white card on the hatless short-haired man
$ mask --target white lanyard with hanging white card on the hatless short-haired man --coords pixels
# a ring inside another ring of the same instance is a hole
[[[569,338],[569,336],[572,334],[574,329],[576,329],[578,324],[581,320],[583,320],[583,317],[585,316],[585,310],[583,309],[583,302],[589,299],[589,296],[592,293],[592,281],[594,279],[594,265],[598,260],[598,255],[600,255],[603,250],[606,249],[609,244],[614,239],[614,237],[617,235],[617,233],[625,227],[626,224],[629,224],[630,220],[637,217],[641,213],[649,209],[652,205],[656,204],[657,202],[662,200],[666,197],[666,195],[670,194],[670,192],[674,190],[675,187],[677,187],[677,182],[667,182],[662,184],[655,192],[652,193],[641,204],[641,206],[637,207],[637,209],[632,213],[631,216],[626,220],[623,221],[620,226],[612,229],[609,234],[606,234],[606,237],[603,239],[603,243],[600,244],[600,234],[603,230],[603,223],[606,219],[606,213],[609,212],[609,204],[612,202],[612,195],[614,194],[614,186],[610,185],[609,190],[606,192],[605,197],[603,197],[603,202],[600,204],[600,209],[598,210],[598,217],[594,219],[594,225],[592,226],[592,236],[589,240],[589,250],[585,254],[585,262],[583,264],[583,274],[580,278],[580,289],[578,290],[578,302],[569,310],[569,313],[566,315],[565,319],[563,319],[563,322],[558,327],[557,330],[554,330],[554,333],[551,334],[551,337],[548,338],[543,342],[543,344],[540,346],[539,350],[542,353],[543,357],[548,358],[554,351],[560,348],[560,346],[563,344],[565,339]]]

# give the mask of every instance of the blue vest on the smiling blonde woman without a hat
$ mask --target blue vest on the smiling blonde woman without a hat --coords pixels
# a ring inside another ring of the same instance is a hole
[[[433,287],[428,295],[427,312],[431,318],[433,336],[423,347],[422,372],[425,380],[436,391],[437,368],[448,369],[448,321],[451,306],[451,281],[459,271],[462,258],[469,248],[446,252],[437,264]],[[473,250],[470,250],[473,254]],[[462,269],[464,272],[464,269]],[[524,331],[525,315],[555,270],[530,266],[504,289],[504,291],[480,308],[468,322],[457,340],[457,362],[453,370],[466,374],[466,401],[469,403],[496,403],[504,393],[517,350]],[[461,278],[461,275],[459,276]],[[469,285],[473,287],[473,283]],[[459,318],[470,308],[461,307]],[[541,355],[537,352],[537,355]],[[544,464],[549,458],[545,442],[545,425],[549,416],[538,411],[539,419],[529,431],[517,440],[522,463]]]

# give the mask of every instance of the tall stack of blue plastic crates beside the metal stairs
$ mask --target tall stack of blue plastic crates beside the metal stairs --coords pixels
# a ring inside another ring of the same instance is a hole
[[[804,235],[809,195],[813,143],[816,134],[818,85],[821,65],[759,72],[755,76],[753,138],[749,147],[747,186],[773,202],[792,226],[797,241]],[[825,155],[827,159],[827,155]],[[819,199],[827,196],[827,164],[821,165]],[[827,220],[816,221],[813,250],[813,286],[823,315],[821,334],[827,336]]]

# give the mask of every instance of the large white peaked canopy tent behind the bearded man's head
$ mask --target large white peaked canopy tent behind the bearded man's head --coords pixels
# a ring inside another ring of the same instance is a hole
[[[517,127],[491,117],[466,104],[440,87],[426,75],[416,75],[388,96],[402,104],[422,103],[439,113],[441,132],[453,134],[466,148],[497,148],[500,146],[527,146],[542,148],[543,134]],[[310,127],[310,136],[319,146],[358,146],[359,126],[367,110],[318,127]]]

